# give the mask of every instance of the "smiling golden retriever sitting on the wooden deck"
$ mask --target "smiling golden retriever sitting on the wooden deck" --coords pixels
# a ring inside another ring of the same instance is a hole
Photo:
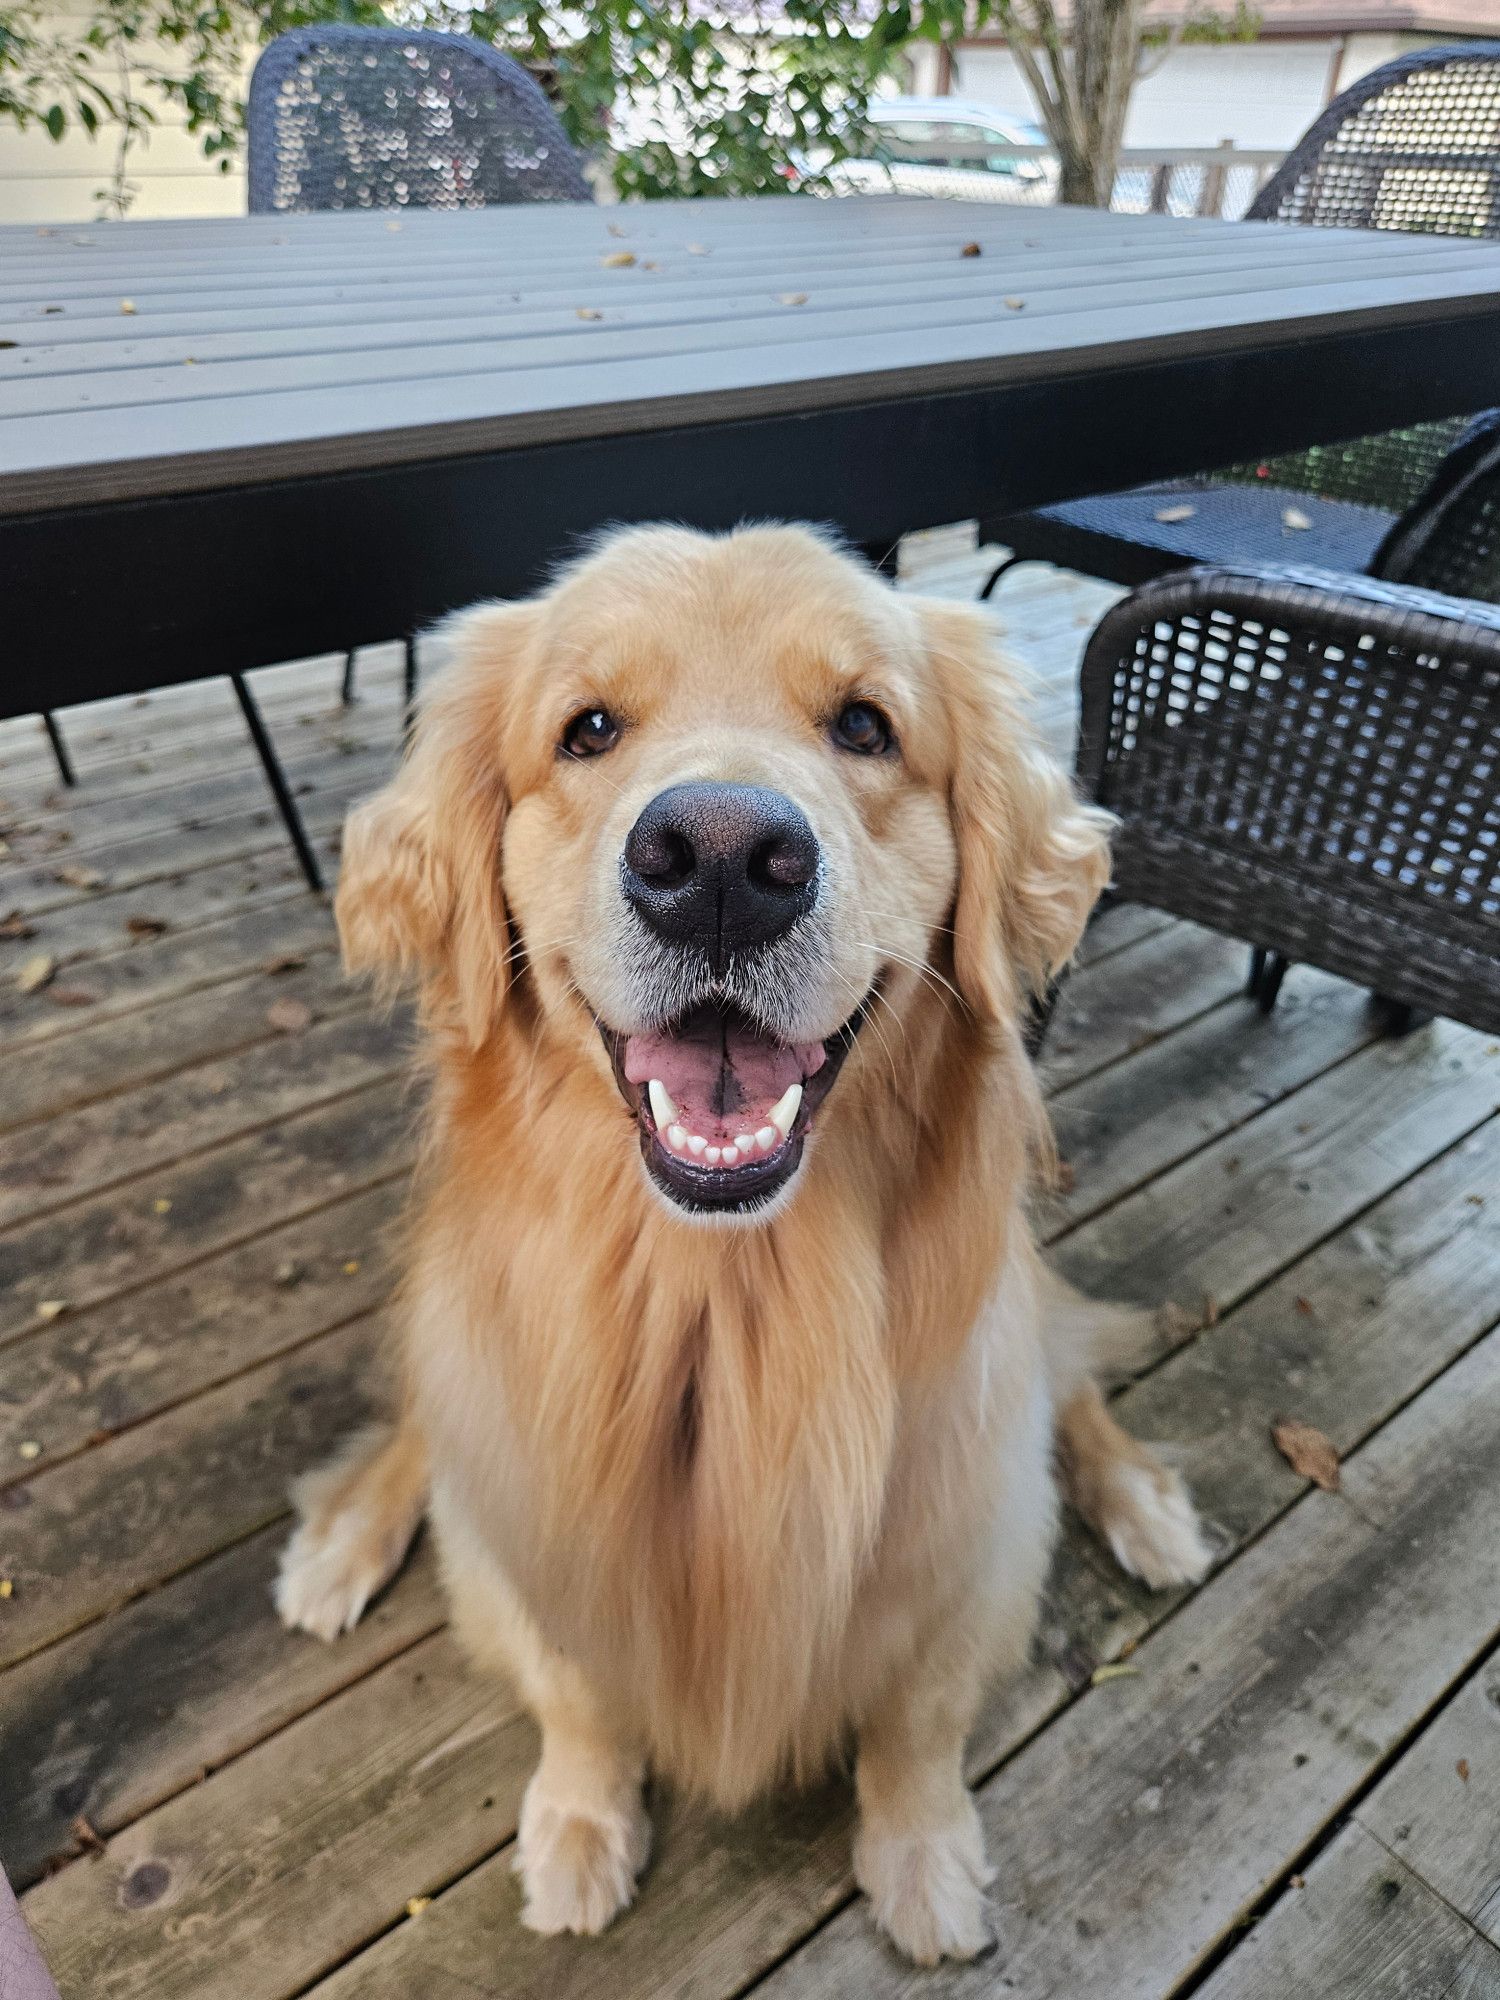
[[[968,1958],[1054,1466],[1148,1582],[1208,1560],[1026,1220],[1018,1024],[1108,822],[980,610],[810,530],[622,532],[446,646],[338,886],[434,1072],[402,1416],[304,1484],[280,1612],[332,1638],[430,1514],[542,1732],[532,1928],[632,1900],[648,1772],[734,1808],[852,1748],[874,1920]]]

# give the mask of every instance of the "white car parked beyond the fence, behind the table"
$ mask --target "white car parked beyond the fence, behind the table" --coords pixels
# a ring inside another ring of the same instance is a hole
[[[926,194],[972,202],[1050,202],[1052,160],[1018,160],[1016,146],[1046,146],[1040,126],[1008,118],[966,98],[876,98],[870,104],[874,146],[836,166],[810,162],[820,192]]]

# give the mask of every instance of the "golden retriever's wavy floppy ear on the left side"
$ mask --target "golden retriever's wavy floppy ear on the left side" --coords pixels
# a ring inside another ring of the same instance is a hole
[[[334,902],[346,968],[388,986],[422,976],[474,1048],[510,984],[502,724],[530,622],[528,604],[480,604],[438,628],[446,664],[402,768],[344,826]]]

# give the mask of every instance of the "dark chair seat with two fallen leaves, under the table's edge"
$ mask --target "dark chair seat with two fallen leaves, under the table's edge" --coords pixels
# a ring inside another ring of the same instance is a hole
[[[1190,514],[1180,514],[1192,508]],[[1310,528],[1288,528],[1288,510]],[[1180,514],[1162,520],[1162,514]],[[1056,562],[1116,584],[1144,584],[1200,562],[1316,562],[1366,570],[1394,514],[1352,500],[1318,500],[1286,486],[1202,486],[1190,480],[1064,500],[984,524],[1016,556]]]

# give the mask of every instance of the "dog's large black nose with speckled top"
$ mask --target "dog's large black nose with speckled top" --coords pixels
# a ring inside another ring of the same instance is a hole
[[[818,838],[780,792],[674,784],[630,828],[624,892],[658,936],[696,944],[722,972],[814,906]]]

